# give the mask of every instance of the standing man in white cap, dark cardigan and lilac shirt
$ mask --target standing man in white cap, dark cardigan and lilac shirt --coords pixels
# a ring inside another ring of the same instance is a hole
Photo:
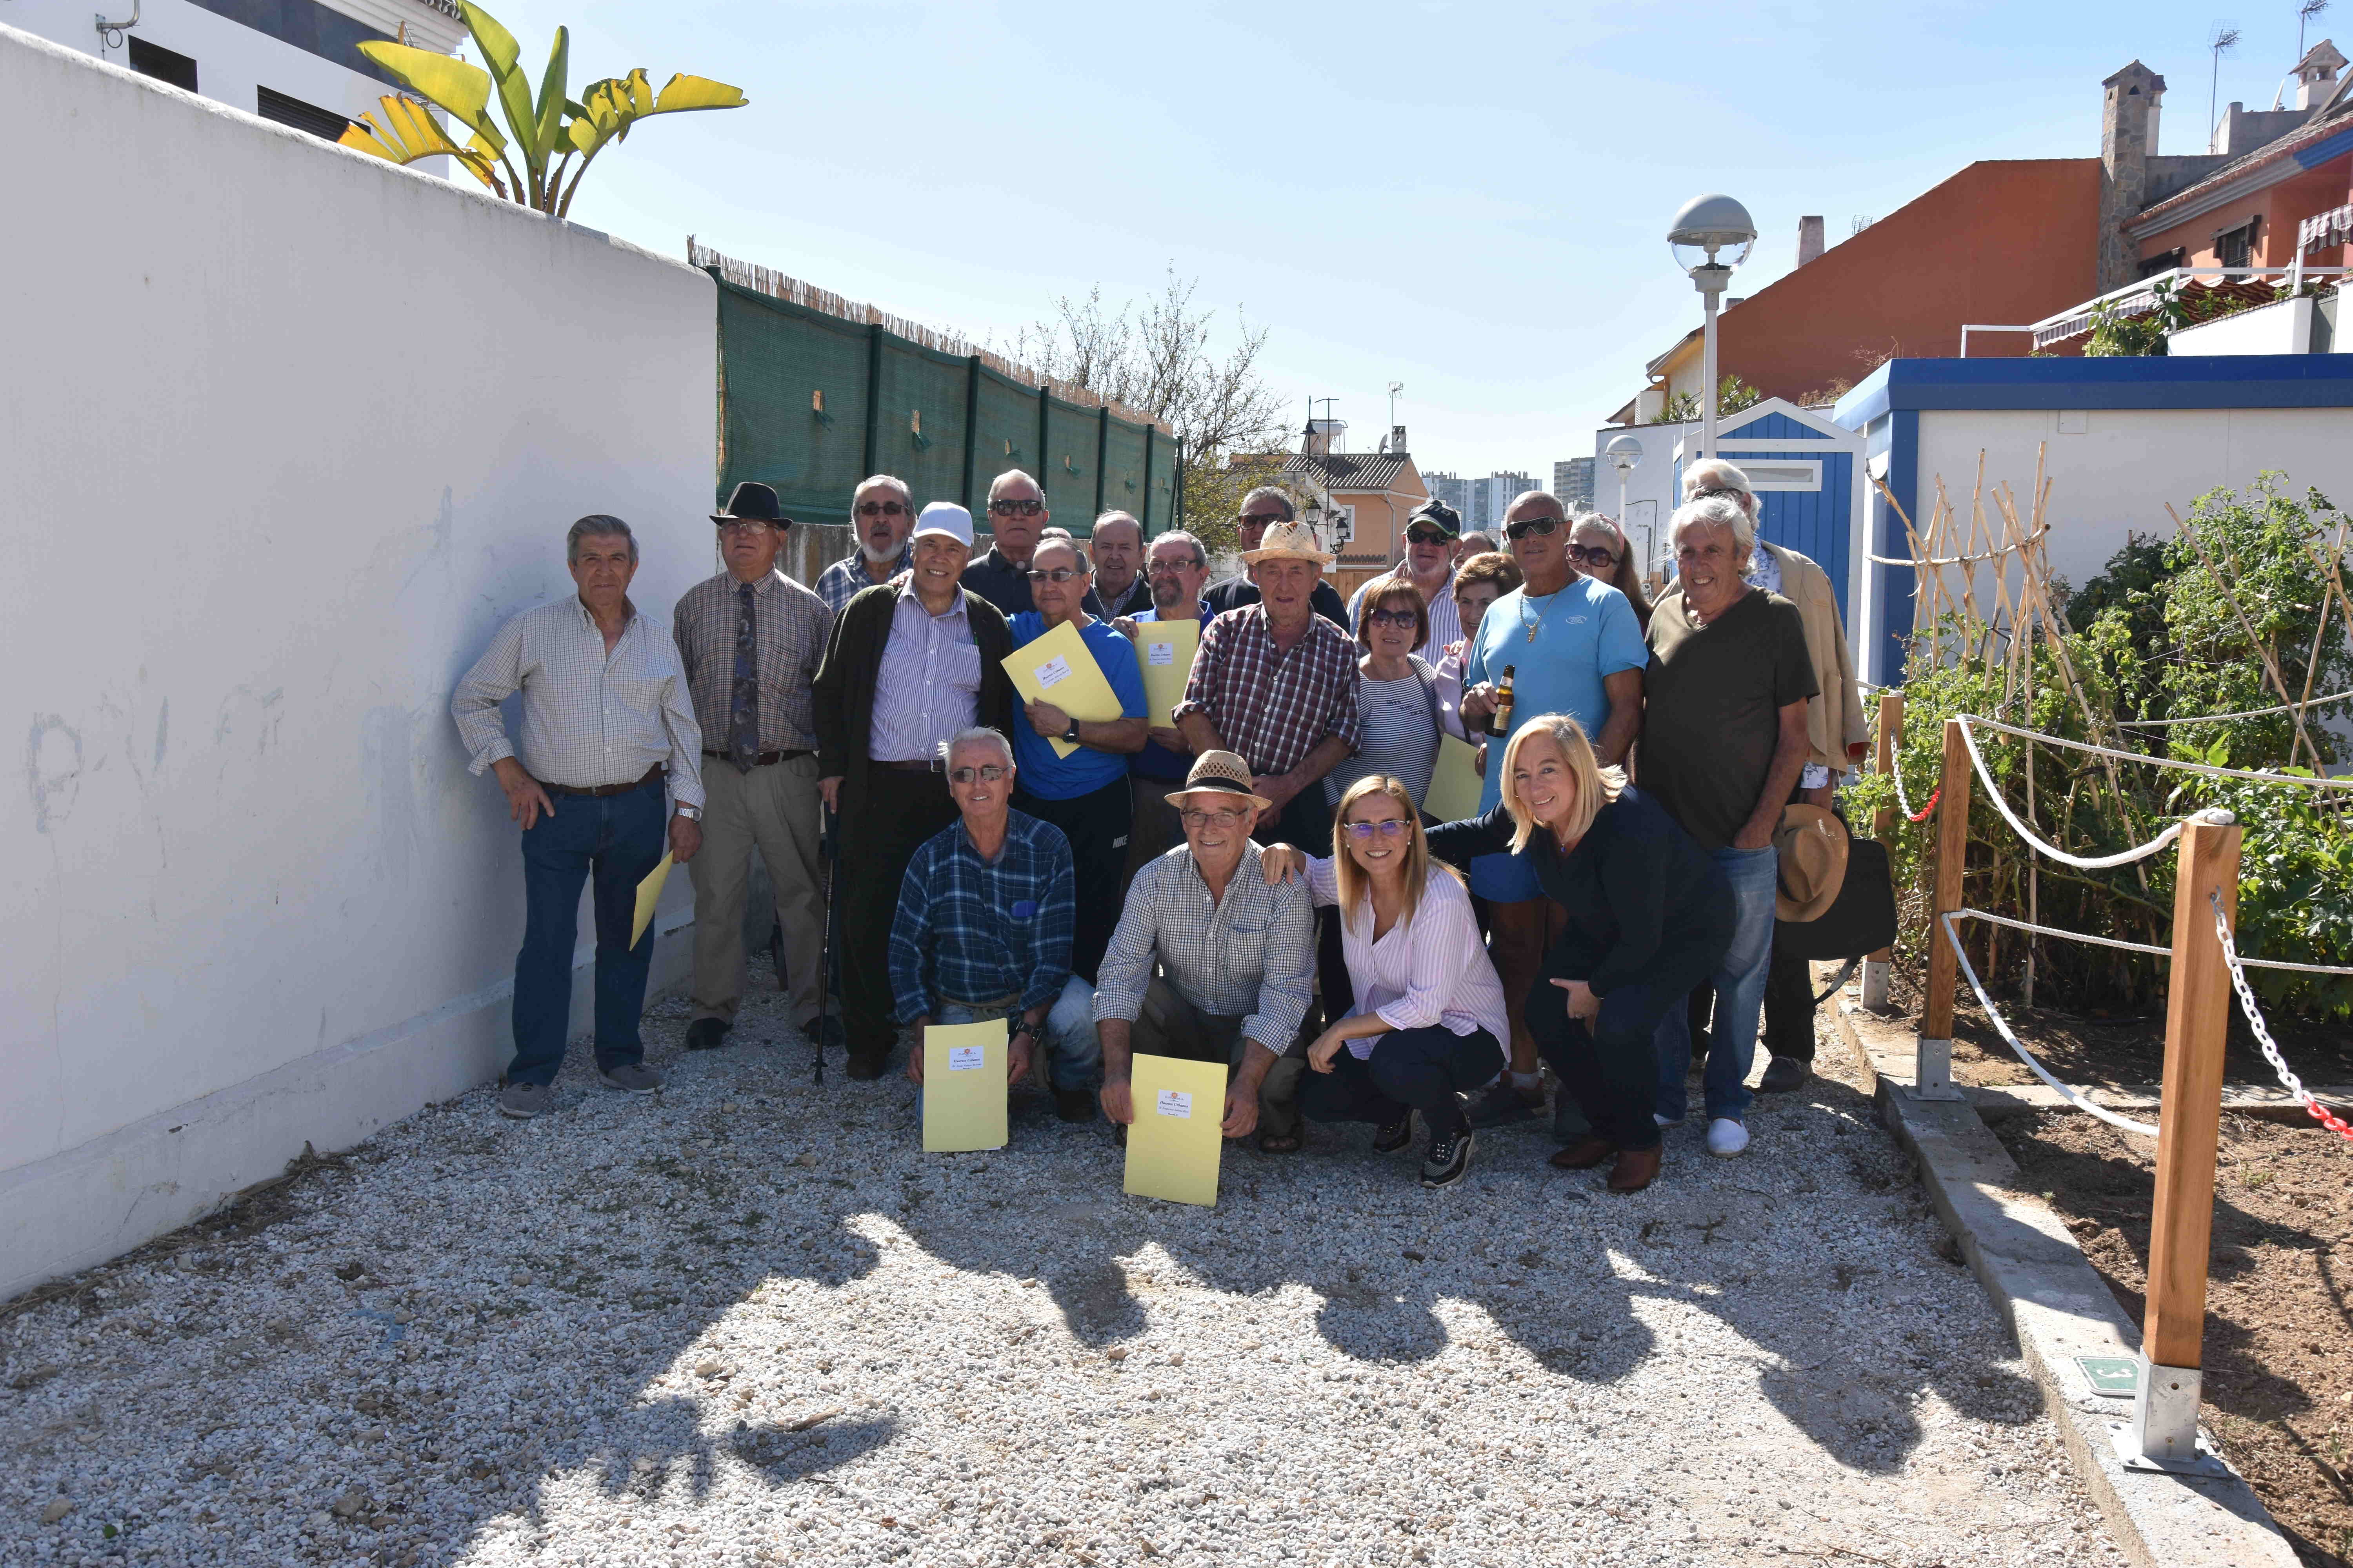
[[[889,924],[915,846],[955,820],[941,743],[1012,726],[1005,616],[960,585],[972,512],[934,501],[915,520],[904,585],[859,590],[816,670],[816,788],[842,818],[842,1034],[849,1077],[878,1079],[896,1041]]]

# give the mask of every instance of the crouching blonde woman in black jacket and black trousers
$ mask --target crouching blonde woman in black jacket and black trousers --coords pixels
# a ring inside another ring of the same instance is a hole
[[[1591,1133],[1553,1154],[1565,1171],[1617,1159],[1612,1192],[1659,1175],[1659,1056],[1652,1037],[1732,940],[1732,884],[1654,799],[1605,769],[1569,715],[1529,719],[1504,748],[1494,811],[1428,832],[1449,865],[1525,853],[1567,914],[1527,992],[1537,1053]]]

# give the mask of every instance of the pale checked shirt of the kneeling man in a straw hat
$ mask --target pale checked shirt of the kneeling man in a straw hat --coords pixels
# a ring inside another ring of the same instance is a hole
[[[1193,849],[1179,844],[1136,870],[1120,929],[1094,976],[1094,1016],[1136,1020],[1153,957],[1176,992],[1212,1018],[1242,1018],[1242,1037],[1282,1053],[1315,985],[1315,912],[1294,877],[1266,886],[1257,844],[1209,898]]]

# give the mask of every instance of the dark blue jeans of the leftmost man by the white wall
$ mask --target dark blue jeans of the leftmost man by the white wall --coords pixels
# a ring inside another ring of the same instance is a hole
[[[572,1032],[572,950],[581,884],[595,879],[595,1065],[645,1060],[638,1016],[654,929],[635,947],[638,884],[661,863],[664,780],[628,795],[551,795],[555,813],[522,830],[522,952],[515,954],[515,1060],[508,1084],[553,1084]]]

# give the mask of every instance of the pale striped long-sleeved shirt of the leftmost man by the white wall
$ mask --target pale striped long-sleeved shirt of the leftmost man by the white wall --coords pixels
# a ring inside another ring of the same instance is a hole
[[[522,736],[511,745],[499,703],[515,691]],[[678,644],[635,604],[612,654],[576,595],[522,611],[466,670],[449,717],[475,773],[515,757],[541,783],[600,790],[666,762],[671,797],[704,804],[704,729],[687,701]]]

